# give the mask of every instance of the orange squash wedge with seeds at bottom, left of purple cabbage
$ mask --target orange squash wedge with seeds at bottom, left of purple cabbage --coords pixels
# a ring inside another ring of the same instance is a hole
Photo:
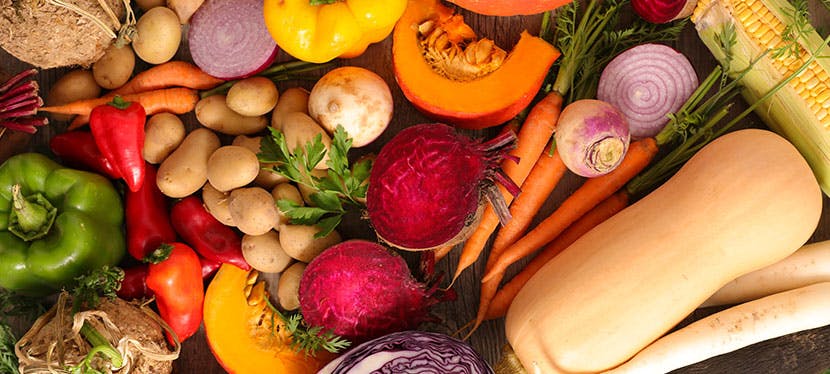
[[[316,373],[333,355],[296,352],[279,316],[266,303],[259,273],[223,264],[205,294],[208,345],[229,373]]]

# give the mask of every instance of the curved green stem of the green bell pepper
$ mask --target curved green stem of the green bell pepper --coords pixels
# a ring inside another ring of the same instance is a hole
[[[23,196],[20,185],[12,186],[12,211],[9,231],[25,241],[32,241],[49,233],[55,222],[57,209],[41,194]]]

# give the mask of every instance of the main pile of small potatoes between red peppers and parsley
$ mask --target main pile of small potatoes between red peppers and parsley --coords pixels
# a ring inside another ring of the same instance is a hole
[[[313,189],[295,185],[270,171],[257,156],[263,130],[285,135],[291,149],[317,135],[328,148],[331,138],[307,114],[308,91],[289,88],[280,95],[268,79],[238,81],[227,95],[202,99],[196,118],[203,126],[186,133],[175,115],[151,116],[145,126],[144,158],[158,163],[156,183],[165,195],[182,198],[201,193],[205,208],[220,222],[243,233],[242,254],[256,270],[281,273],[280,305],[299,307],[297,288],[305,264],[339,243],[337,231],[315,238],[316,226],[295,225],[279,210],[278,200],[311,204]],[[242,113],[240,113],[242,112]],[[222,144],[220,134],[234,136]],[[325,160],[315,173],[325,173]]]

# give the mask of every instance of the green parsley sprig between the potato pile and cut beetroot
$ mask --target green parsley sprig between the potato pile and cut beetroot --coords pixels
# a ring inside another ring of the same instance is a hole
[[[259,160],[275,164],[272,171],[315,190],[309,197],[315,206],[301,206],[286,199],[277,201],[280,211],[291,223],[317,225],[320,231],[315,236],[323,237],[340,224],[349,208],[364,206],[372,160],[362,159],[349,165],[352,139],[342,126],[337,126],[334,131],[326,162],[329,168],[323,177],[312,173],[327,152],[321,135],[292,151],[282,132],[274,128],[270,130],[271,136],[262,140]]]

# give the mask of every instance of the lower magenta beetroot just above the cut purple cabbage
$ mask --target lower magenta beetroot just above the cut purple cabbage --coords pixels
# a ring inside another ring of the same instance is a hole
[[[440,302],[406,262],[380,244],[348,240],[314,258],[300,280],[300,311],[311,326],[353,343],[414,329]]]

